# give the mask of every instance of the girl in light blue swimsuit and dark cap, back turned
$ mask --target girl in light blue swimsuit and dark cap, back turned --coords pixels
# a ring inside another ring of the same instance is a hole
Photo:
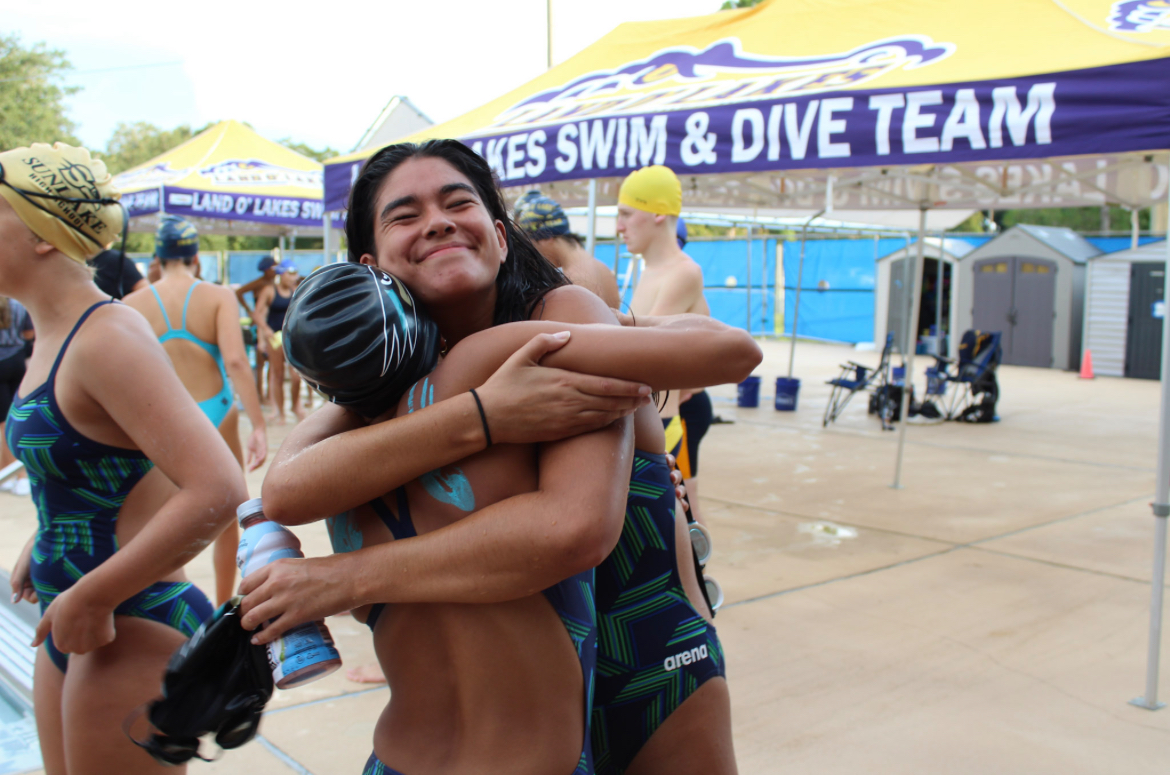
[[[199,234],[194,226],[181,218],[163,217],[154,235],[154,254],[163,263],[163,279],[157,286],[147,286],[130,294],[125,301],[142,313],[153,327],[158,341],[165,345],[179,372],[179,378],[193,398],[199,399],[213,389],[218,372],[219,390],[209,398],[198,400],[199,409],[219,430],[242,466],[245,459],[240,448],[238,413],[233,407],[233,384],[238,386],[240,399],[253,427],[248,439],[247,460],[248,469],[252,471],[260,466],[268,454],[268,435],[260,409],[260,397],[256,395],[245,355],[235,294],[228,288],[191,276],[191,267],[199,255]],[[178,314],[179,294],[186,283],[190,283],[190,287],[181,296],[183,311]],[[161,293],[159,288],[163,289]],[[167,304],[171,311],[167,311]],[[178,327],[174,325],[176,320],[179,321]],[[167,344],[176,341],[190,342],[211,356],[211,361],[186,344]],[[213,563],[218,603],[230,597],[235,589],[238,543],[239,528],[234,522],[215,541]]]

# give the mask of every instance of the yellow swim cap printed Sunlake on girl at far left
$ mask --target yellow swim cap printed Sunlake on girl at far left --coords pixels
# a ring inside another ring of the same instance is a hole
[[[122,231],[121,194],[105,164],[83,148],[34,143],[0,153],[0,197],[34,234],[78,263]]]

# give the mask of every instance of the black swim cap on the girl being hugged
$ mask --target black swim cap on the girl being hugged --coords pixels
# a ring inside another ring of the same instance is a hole
[[[335,404],[366,418],[391,409],[439,361],[439,327],[397,277],[330,263],[292,294],[284,357]]]

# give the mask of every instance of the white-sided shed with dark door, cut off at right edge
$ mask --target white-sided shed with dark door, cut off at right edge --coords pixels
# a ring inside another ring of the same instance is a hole
[[[1089,260],[1085,349],[1107,377],[1162,376],[1166,244],[1150,242]]]

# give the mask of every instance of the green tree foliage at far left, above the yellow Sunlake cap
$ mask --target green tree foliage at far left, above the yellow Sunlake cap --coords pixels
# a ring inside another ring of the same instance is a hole
[[[80,144],[64,107],[77,88],[60,83],[69,67],[64,52],[0,35],[0,150],[57,140]]]

